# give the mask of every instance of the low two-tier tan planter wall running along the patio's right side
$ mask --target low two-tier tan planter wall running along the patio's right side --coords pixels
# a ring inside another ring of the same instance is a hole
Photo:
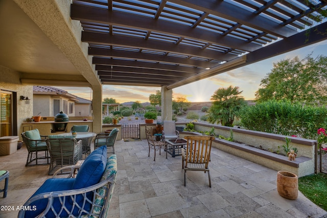
[[[279,149],[282,152],[282,145],[284,144],[284,139],[286,136],[220,125],[210,125],[196,122],[194,122],[194,124],[195,129],[201,131],[210,131],[214,126],[215,134],[222,135],[226,138],[230,136],[230,129],[232,129],[234,140],[253,146],[251,147],[216,138],[213,142],[213,146],[220,150],[229,152],[230,154],[242,157],[277,171],[284,170],[295,173],[298,177],[307,176],[315,172],[315,140],[290,137],[292,138],[291,146],[297,147],[299,151],[296,160],[289,161],[288,157],[286,156],[277,155],[273,152],[260,149],[260,146],[267,150],[269,150],[269,148],[278,149],[277,145],[280,145]],[[181,136],[190,134],[197,133],[183,132]]]

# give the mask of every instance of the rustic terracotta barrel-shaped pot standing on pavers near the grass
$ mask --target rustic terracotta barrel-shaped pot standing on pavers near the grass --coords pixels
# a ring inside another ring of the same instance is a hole
[[[277,172],[277,191],[282,197],[290,200],[297,199],[298,195],[298,178],[292,172]]]

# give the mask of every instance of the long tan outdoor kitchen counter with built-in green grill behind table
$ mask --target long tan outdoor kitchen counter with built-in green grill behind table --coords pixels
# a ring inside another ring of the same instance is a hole
[[[67,123],[66,131],[62,132],[56,132],[52,133],[51,129],[55,129],[54,124],[55,123]],[[69,133],[71,132],[71,128],[73,125],[88,125],[89,126],[89,132],[92,132],[92,120],[70,120],[67,122],[55,122],[55,121],[40,121],[40,122],[23,122],[22,123],[22,129],[21,133],[25,132],[27,130],[32,130],[32,129],[38,129],[40,132],[40,135],[43,136],[49,136],[49,135],[55,135],[55,134],[62,134],[62,133]]]

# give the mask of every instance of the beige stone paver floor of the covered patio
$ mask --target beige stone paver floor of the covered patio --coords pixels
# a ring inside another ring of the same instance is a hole
[[[161,149],[153,161],[146,140],[115,145],[118,176],[107,217],[327,217],[327,212],[300,192],[297,200],[279,196],[277,171],[212,149],[209,163],[212,188],[202,171],[186,173],[184,187],[181,157]],[[19,206],[45,179],[49,166],[25,167],[27,150],[0,156],[1,169],[10,171],[7,198],[0,205]],[[4,185],[0,183],[1,187]],[[0,217],[17,217],[18,211],[0,211]]]

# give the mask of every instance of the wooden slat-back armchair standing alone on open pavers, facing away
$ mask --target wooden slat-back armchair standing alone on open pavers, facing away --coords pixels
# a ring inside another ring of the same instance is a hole
[[[186,170],[197,170],[208,172],[209,187],[211,187],[211,179],[208,163],[210,160],[210,152],[212,136],[185,136],[188,140],[186,149],[182,148],[182,169],[184,169],[184,186],[186,186]],[[185,163],[185,164],[184,164]]]

